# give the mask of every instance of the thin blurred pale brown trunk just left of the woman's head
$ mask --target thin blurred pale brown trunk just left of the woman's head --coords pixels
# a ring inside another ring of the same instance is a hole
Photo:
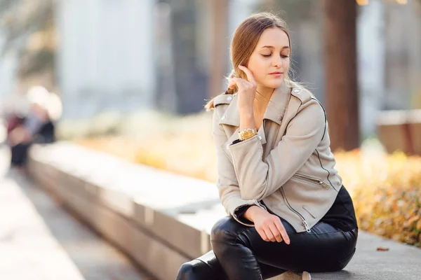
[[[208,1],[211,20],[210,31],[210,69],[208,97],[222,92],[222,80],[225,76],[227,51],[228,0]]]

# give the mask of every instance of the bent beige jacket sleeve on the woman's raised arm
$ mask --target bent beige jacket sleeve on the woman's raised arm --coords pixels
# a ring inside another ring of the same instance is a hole
[[[265,161],[262,144],[256,136],[230,145],[241,197],[262,200],[283,186],[319,145],[325,124],[323,109],[312,102],[290,120],[286,134]]]

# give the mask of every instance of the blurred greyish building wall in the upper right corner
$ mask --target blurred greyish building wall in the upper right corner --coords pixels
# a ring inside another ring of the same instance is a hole
[[[383,109],[421,109],[421,1],[385,5],[383,16],[386,87]]]

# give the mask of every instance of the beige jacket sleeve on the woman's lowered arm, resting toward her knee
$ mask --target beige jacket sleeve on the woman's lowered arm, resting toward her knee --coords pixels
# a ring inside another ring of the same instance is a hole
[[[237,210],[245,205],[257,205],[263,209],[266,209],[257,200],[243,200],[241,198],[239,183],[236,179],[234,172],[234,166],[229,161],[225,151],[222,149],[222,145],[228,141],[227,134],[225,134],[222,125],[219,125],[218,112],[215,109],[213,111],[213,139],[215,142],[216,158],[217,158],[217,173],[218,179],[216,186],[222,206],[225,208],[227,214],[233,216],[233,218],[242,223],[243,225],[253,226],[254,224],[246,219],[241,219],[237,216]]]

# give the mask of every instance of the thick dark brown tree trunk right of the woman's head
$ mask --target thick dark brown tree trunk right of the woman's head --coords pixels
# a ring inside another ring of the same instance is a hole
[[[324,0],[326,104],[332,151],[359,147],[356,2]]]

